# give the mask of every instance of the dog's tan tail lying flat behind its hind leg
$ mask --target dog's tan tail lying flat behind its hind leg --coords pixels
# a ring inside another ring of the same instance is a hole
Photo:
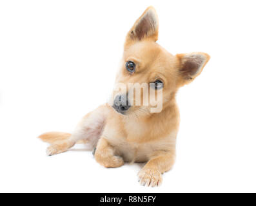
[[[49,144],[57,144],[58,142],[63,142],[65,140],[68,140],[70,138],[70,133],[61,133],[61,132],[50,132],[50,133],[44,133],[43,135],[40,135],[38,138],[40,138],[43,142],[47,142]],[[85,144],[86,140],[80,140],[76,144]]]

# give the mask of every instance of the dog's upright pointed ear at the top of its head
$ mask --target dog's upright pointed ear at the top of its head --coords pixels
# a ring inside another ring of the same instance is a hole
[[[157,13],[155,12],[155,9],[150,6],[144,11],[143,15],[137,19],[131,30],[128,32],[125,45],[135,41],[142,41],[143,39],[157,41],[158,27]]]

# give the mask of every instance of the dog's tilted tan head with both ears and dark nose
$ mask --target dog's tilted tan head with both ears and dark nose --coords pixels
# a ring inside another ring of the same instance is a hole
[[[113,91],[112,106],[118,113],[138,117],[161,112],[210,59],[201,52],[172,55],[157,44],[158,29],[157,14],[149,7],[126,36]]]

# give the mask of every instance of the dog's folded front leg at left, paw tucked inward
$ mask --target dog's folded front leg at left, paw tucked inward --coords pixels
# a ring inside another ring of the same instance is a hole
[[[94,157],[104,167],[121,167],[124,164],[123,158],[115,155],[114,148],[104,137],[99,140]]]

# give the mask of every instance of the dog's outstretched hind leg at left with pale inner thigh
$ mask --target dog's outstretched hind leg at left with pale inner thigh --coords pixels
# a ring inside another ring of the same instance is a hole
[[[51,156],[63,153],[73,147],[79,140],[84,140],[84,142],[89,144],[93,149],[103,131],[107,113],[108,107],[100,106],[91,113],[85,115],[75,128],[74,133],[65,140],[53,142],[52,145],[47,148],[46,154]]]

